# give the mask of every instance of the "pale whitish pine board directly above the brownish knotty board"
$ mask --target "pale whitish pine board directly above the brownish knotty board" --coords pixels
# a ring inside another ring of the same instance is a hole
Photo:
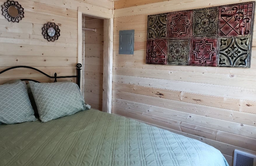
[[[256,101],[255,88],[242,88],[242,87],[230,87],[230,86],[221,86],[213,84],[202,84],[202,83],[193,83],[193,82],[184,82],[184,81],[175,81],[175,80],[166,80],[166,79],[150,79],[142,77],[133,77],[133,76],[121,76],[114,75],[113,82],[120,82],[126,84],[140,85],[143,87],[156,87],[162,89],[169,89],[181,92],[188,92],[192,94],[206,94],[210,96],[219,96],[219,97],[228,97],[248,101]],[[205,90],[207,89],[207,90]],[[248,105],[252,105],[248,103]],[[251,106],[247,106],[249,107]],[[255,112],[252,109],[252,112]]]

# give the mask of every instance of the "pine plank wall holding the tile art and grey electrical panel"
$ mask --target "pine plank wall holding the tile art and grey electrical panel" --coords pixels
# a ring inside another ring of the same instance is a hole
[[[171,0],[114,10],[112,112],[201,140],[230,164],[234,149],[256,154],[256,37],[250,69],[145,64],[148,15],[249,1]],[[118,55],[119,30],[130,29],[134,55]]]

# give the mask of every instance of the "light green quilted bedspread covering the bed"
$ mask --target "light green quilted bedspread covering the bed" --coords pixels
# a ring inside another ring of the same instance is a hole
[[[205,143],[95,109],[46,123],[1,124],[0,133],[1,166],[228,166]]]

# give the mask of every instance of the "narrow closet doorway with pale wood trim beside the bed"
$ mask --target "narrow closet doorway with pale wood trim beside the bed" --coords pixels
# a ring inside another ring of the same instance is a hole
[[[78,7],[77,61],[83,65],[84,71],[81,91],[85,102],[92,108],[108,113],[112,109],[113,17],[112,14]]]

